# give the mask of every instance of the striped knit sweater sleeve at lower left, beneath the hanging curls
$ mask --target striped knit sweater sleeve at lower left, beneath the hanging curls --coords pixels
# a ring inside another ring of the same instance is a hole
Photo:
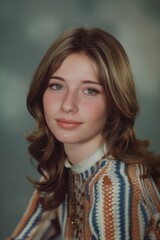
[[[44,211],[35,191],[19,225],[7,240],[56,239],[60,227],[55,211]]]

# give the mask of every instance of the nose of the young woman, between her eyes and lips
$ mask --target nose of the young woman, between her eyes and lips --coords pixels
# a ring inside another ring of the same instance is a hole
[[[67,91],[62,103],[63,111],[69,112],[77,112],[78,111],[78,103],[77,103],[77,94],[72,91]]]

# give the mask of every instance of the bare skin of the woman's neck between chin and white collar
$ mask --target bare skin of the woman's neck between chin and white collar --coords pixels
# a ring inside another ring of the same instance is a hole
[[[76,165],[83,159],[91,155],[97,148],[100,147],[102,141],[99,142],[87,142],[87,143],[76,143],[76,144],[64,144],[64,149],[68,160],[71,164]]]

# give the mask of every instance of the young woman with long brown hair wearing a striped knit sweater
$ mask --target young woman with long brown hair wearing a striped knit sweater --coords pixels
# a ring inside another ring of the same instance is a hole
[[[40,63],[27,106],[42,178],[9,239],[160,239],[160,158],[135,136],[139,107],[118,40],[96,28],[64,33]]]

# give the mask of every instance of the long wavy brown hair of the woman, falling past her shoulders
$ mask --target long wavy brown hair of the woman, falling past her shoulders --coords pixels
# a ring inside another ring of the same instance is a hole
[[[83,52],[98,66],[99,80],[107,97],[107,121],[103,136],[108,154],[126,163],[140,163],[158,179],[159,158],[147,150],[148,141],[140,141],[134,133],[139,105],[127,54],[111,34],[98,28],[77,28],[62,34],[49,48],[33,77],[27,97],[27,107],[35,118],[36,128],[27,136],[31,156],[38,162],[43,175],[35,187],[42,194],[45,209],[56,208],[68,191],[68,170],[63,144],[51,133],[43,110],[43,94],[50,76],[72,53]],[[43,197],[45,195],[45,197]]]

